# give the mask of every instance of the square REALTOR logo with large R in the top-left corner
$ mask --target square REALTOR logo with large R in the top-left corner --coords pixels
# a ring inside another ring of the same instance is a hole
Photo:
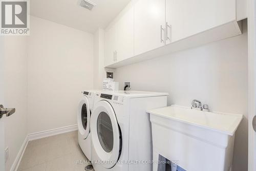
[[[0,35],[29,35],[29,0],[0,0]]]

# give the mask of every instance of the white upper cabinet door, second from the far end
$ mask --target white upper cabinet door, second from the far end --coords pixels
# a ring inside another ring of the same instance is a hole
[[[116,23],[116,62],[134,56],[134,8],[125,11]]]

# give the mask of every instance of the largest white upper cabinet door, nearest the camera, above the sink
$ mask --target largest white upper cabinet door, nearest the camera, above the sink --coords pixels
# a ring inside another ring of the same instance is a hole
[[[236,0],[166,0],[166,44],[236,20]]]

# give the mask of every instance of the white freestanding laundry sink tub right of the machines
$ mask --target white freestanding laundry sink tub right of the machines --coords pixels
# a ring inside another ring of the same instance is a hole
[[[172,105],[147,111],[153,137],[153,159],[159,155],[187,171],[229,171],[234,134],[243,115],[191,110]],[[153,171],[158,164],[154,164]]]

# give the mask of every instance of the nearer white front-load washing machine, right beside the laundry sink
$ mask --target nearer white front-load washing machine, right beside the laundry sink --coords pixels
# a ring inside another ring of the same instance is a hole
[[[152,170],[152,133],[146,110],[167,105],[168,93],[98,92],[91,116],[95,171]]]

